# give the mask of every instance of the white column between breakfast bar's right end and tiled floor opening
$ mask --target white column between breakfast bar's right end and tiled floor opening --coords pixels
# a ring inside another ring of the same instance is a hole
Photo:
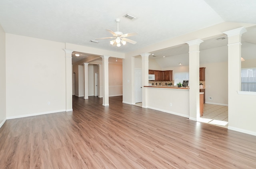
[[[195,39],[188,41],[189,45],[189,119],[200,117],[199,102],[199,45],[203,41]]]

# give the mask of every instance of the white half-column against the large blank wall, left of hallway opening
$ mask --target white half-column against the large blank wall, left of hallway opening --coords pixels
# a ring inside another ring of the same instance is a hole
[[[66,52],[66,112],[72,111],[72,50]]]

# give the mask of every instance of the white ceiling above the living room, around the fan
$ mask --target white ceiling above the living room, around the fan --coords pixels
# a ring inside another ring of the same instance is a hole
[[[256,24],[255,9],[255,0],[1,0],[0,24],[6,33],[127,53],[222,22]],[[117,31],[116,18],[119,31],[139,33],[129,37],[135,45],[90,42]]]

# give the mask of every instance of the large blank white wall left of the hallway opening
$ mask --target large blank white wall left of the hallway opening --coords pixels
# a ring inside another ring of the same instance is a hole
[[[64,43],[6,33],[7,118],[66,111],[63,49]]]

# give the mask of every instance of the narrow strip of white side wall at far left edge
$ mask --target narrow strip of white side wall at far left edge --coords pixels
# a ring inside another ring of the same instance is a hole
[[[6,52],[5,32],[0,25],[0,127],[6,120]]]

